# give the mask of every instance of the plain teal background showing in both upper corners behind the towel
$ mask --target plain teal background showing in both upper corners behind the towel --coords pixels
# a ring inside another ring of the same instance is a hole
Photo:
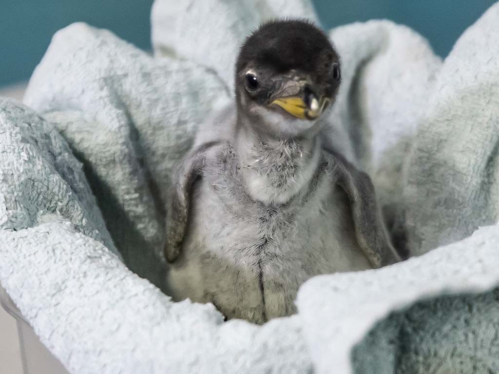
[[[43,56],[53,33],[75,21],[109,28],[137,46],[150,49],[149,15],[152,2],[0,0],[0,86],[27,80]],[[388,18],[414,28],[430,40],[439,55],[445,57],[459,35],[495,0],[312,2],[325,28],[372,18]]]

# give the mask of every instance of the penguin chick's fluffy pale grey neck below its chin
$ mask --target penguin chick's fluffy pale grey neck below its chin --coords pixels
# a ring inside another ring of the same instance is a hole
[[[244,122],[240,118],[236,148],[250,197],[267,205],[285,204],[306,191],[319,164],[318,136],[276,139],[257,134]]]

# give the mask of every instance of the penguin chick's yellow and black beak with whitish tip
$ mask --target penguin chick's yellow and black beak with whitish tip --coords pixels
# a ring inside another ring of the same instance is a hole
[[[283,89],[279,90],[277,97],[273,98],[268,106],[272,107],[277,105],[293,117],[314,120],[322,113],[322,110],[326,107],[329,99],[325,96],[317,98],[317,96],[306,87],[307,85],[303,83],[290,82],[286,84]],[[295,92],[292,95],[286,95],[286,93],[291,93],[290,91]]]

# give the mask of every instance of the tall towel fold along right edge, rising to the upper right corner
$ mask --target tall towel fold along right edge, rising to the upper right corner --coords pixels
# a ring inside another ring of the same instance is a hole
[[[499,217],[499,5],[457,41],[427,96],[407,165],[414,254]]]

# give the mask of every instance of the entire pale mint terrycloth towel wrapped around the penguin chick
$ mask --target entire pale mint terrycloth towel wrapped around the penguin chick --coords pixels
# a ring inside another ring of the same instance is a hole
[[[331,31],[343,82],[324,135],[422,256],[313,278],[297,315],[258,327],[149,282],[172,167],[231,102],[246,28],[313,16],[304,0],[209,2],[157,0],[155,57],[68,26],[30,80],[36,113],[0,100],[0,282],[41,341],[74,374],[499,372],[498,228],[433,249],[497,221],[499,4],[443,62],[392,22]]]

